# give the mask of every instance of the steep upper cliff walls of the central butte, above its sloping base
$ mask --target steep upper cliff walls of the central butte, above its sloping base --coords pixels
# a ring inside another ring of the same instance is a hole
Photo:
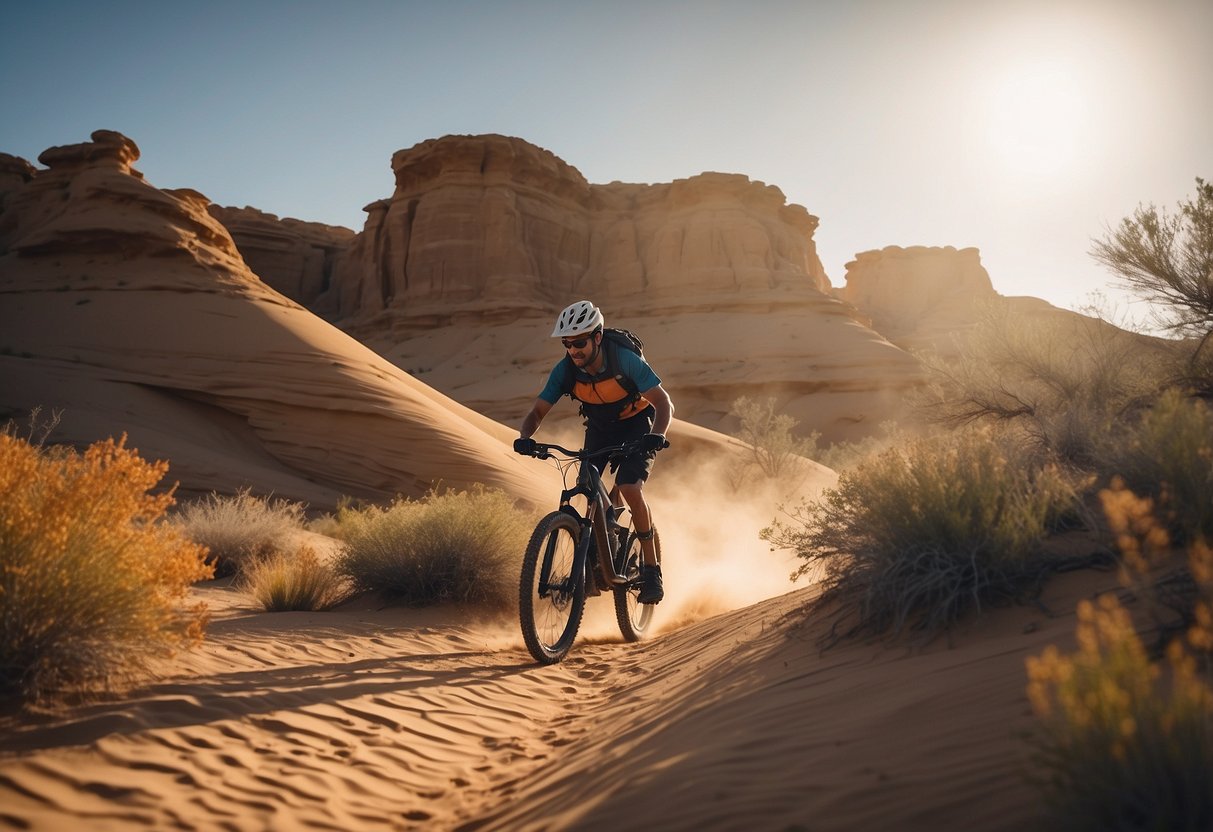
[[[366,207],[337,264],[341,320],[451,304],[525,308],[590,292],[603,302],[828,286],[818,220],[771,186],[702,173],[593,186],[552,153],[506,136],[446,136],[392,158],[395,189]]]

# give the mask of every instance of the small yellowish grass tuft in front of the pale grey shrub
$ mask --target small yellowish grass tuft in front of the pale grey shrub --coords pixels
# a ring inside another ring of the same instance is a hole
[[[328,610],[349,597],[346,580],[308,546],[245,562],[240,588],[269,612]]]

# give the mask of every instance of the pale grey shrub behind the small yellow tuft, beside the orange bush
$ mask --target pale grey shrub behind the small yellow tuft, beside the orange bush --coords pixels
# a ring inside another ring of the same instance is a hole
[[[190,540],[210,551],[215,574],[223,577],[256,558],[289,551],[303,526],[303,506],[257,497],[246,489],[188,503],[178,520]]]

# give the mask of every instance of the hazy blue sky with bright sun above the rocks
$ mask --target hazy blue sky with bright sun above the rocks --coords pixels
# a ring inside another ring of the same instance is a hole
[[[778,186],[835,285],[976,246],[1074,307],[1111,283],[1093,237],[1213,178],[1213,0],[39,0],[0,38],[30,161],[118,130],[158,187],[361,229],[393,152],[505,133],[593,183]]]

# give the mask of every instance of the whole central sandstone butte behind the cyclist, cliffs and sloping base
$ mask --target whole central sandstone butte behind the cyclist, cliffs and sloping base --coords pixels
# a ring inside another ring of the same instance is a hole
[[[858,438],[899,416],[919,381],[832,296],[818,218],[779,188],[714,172],[590,184],[494,135],[422,142],[392,170],[392,195],[366,207],[311,306],[507,424],[560,357],[557,310],[581,297],[644,338],[678,415],[712,429],[730,429],[735,398],[774,395],[805,432]]]

